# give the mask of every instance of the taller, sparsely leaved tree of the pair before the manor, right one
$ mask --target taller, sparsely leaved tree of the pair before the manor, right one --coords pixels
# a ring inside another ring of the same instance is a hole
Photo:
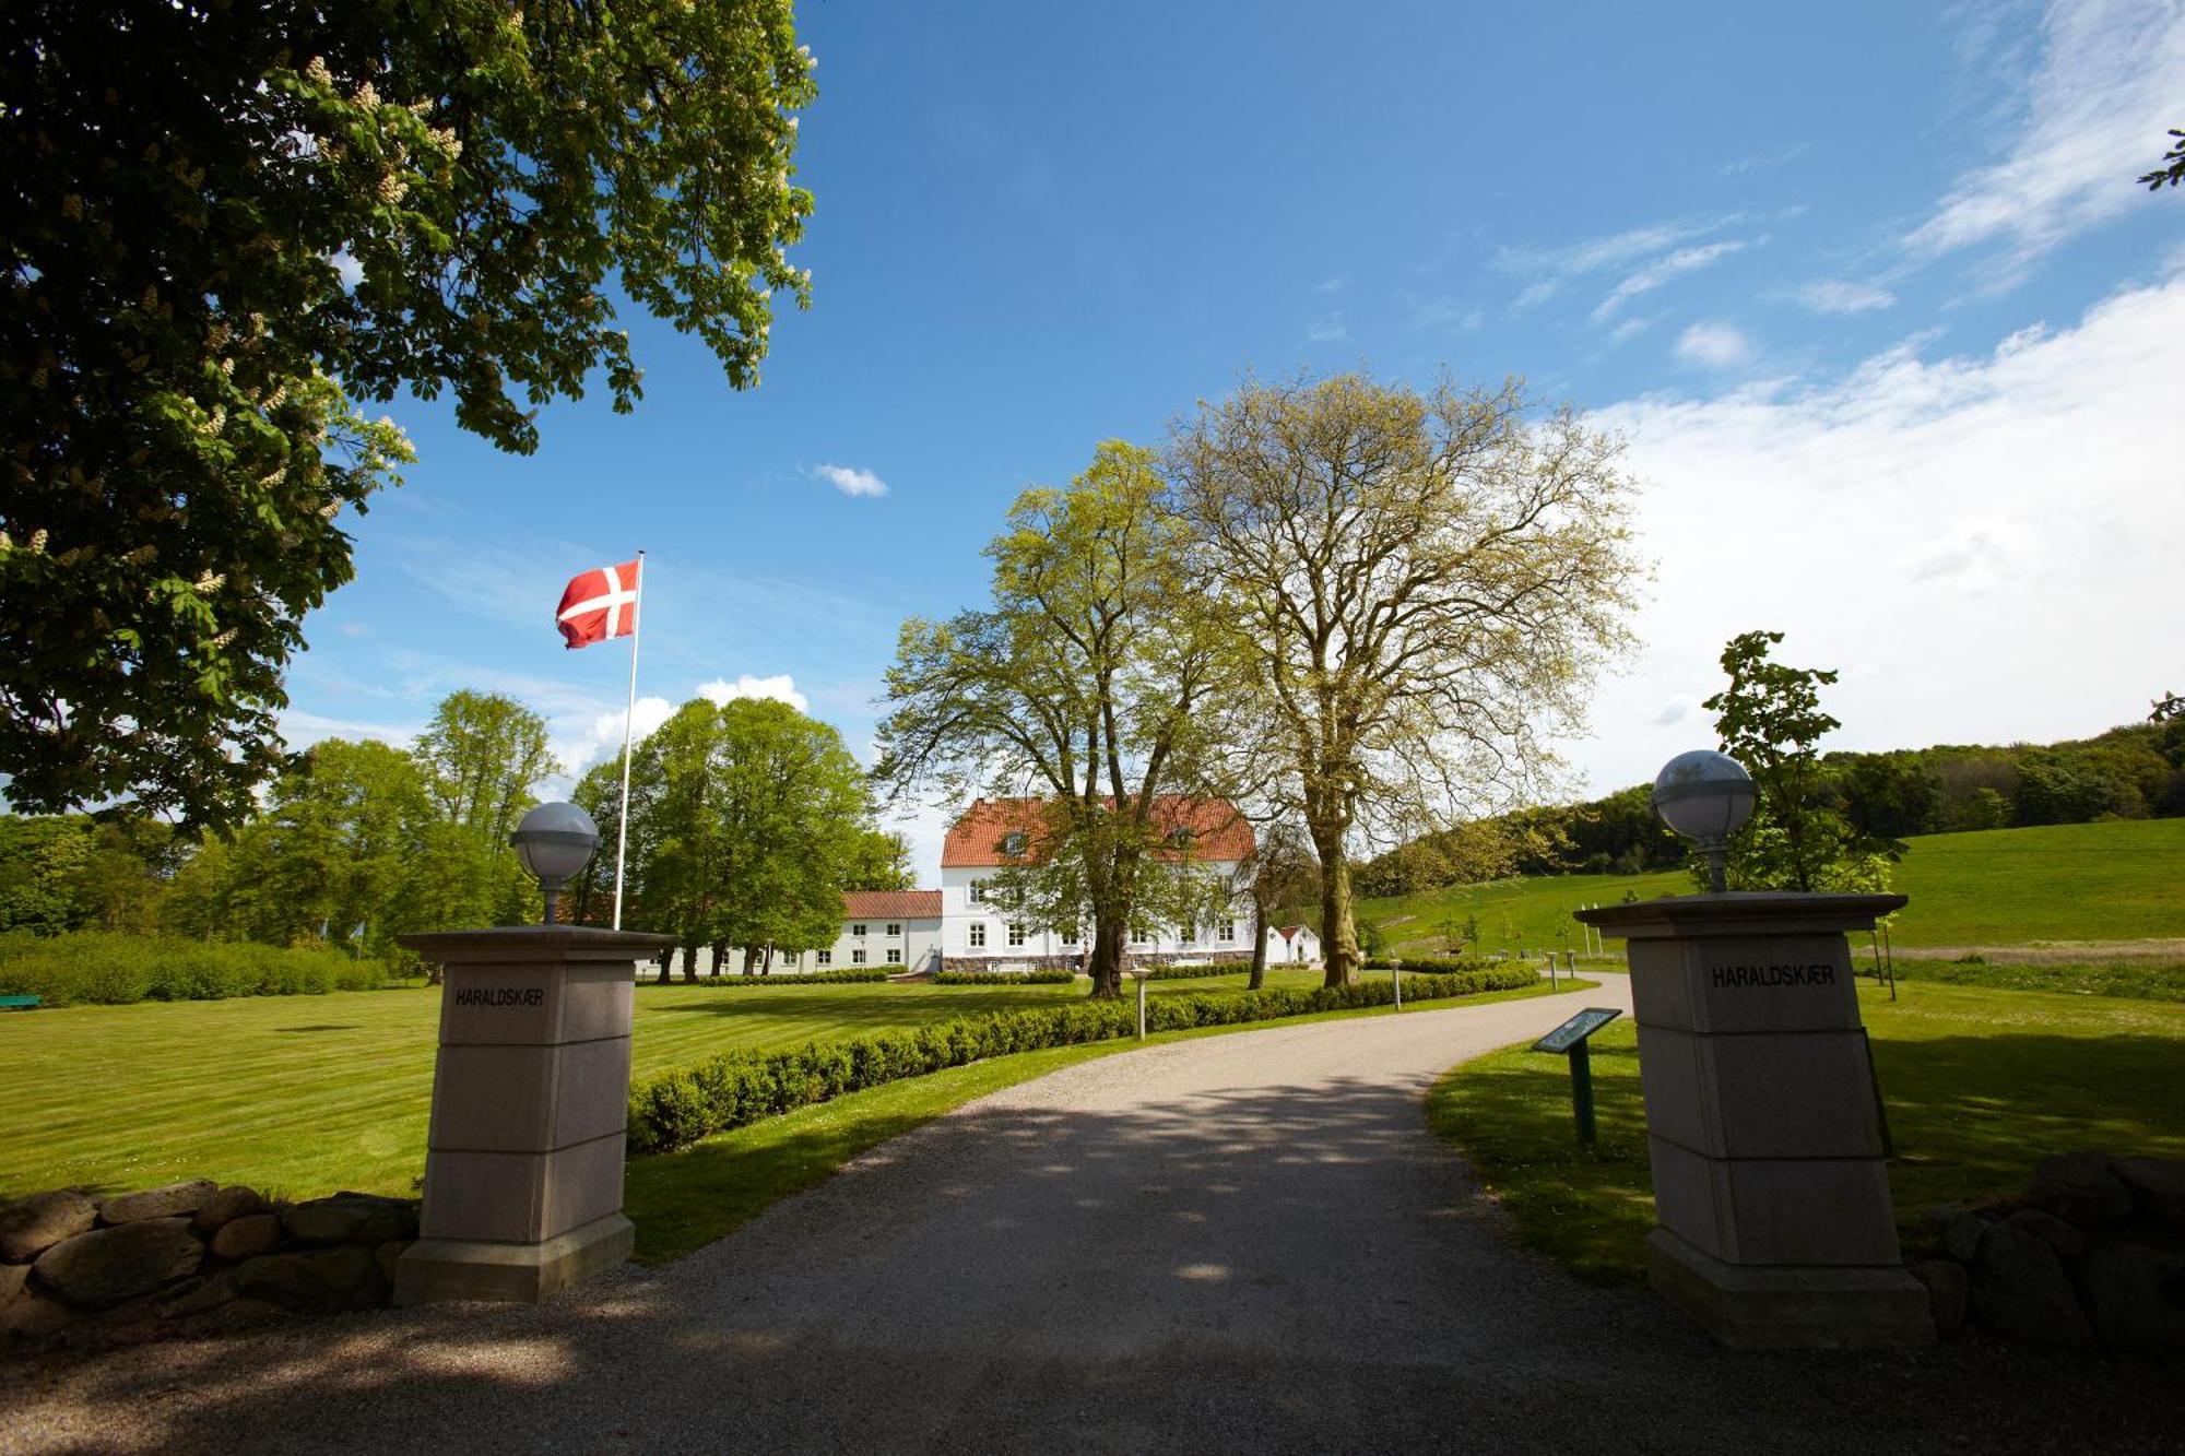
[[[1353,839],[1530,796],[1626,641],[1621,444],[1516,380],[1420,396],[1248,380],[1167,453],[1193,577],[1276,717],[1320,857],[1331,986],[1359,968]]]

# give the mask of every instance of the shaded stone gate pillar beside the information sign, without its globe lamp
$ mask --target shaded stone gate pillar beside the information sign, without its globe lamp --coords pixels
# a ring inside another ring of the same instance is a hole
[[[1658,1226],[1654,1290],[1737,1347],[1925,1345],[1844,931],[1901,894],[1582,909],[1623,936]]]

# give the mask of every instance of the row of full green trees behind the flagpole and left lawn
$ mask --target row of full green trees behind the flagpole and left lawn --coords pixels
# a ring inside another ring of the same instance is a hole
[[[116,929],[395,955],[404,931],[520,925],[538,890],[509,831],[559,772],[546,721],[454,693],[409,750],[326,739],[264,809],[192,844],[142,813],[0,815],[0,931]],[[603,826],[570,903],[605,920],[621,763],[577,800]],[[909,888],[907,846],[870,822],[863,772],[826,724],[778,702],[686,704],[631,763],[625,925],[699,944],[832,942],[843,888]],[[688,968],[688,962],[686,962]]]

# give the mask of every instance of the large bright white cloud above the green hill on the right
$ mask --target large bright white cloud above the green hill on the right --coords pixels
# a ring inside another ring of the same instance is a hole
[[[2052,741],[2146,713],[2176,660],[2185,516],[2148,422],[2174,413],[2185,275],[1986,354],[1921,345],[1803,389],[1593,418],[1632,442],[1658,562],[1645,645],[1573,748],[1595,789],[1709,743],[1704,713],[1667,704],[1717,691],[1722,643],[1752,627],[1787,634],[1785,662],[1846,669],[1827,748]]]

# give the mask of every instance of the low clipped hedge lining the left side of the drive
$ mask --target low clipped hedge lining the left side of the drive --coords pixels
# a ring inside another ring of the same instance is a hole
[[[1405,986],[1409,1001],[1468,997],[1538,984],[1530,966],[1492,966],[1460,975],[1420,975]],[[1241,1025],[1313,1012],[1387,1006],[1387,982],[1315,986],[1311,990],[1184,993],[1156,997],[1145,1012],[1149,1032]],[[712,1132],[743,1128],[813,1102],[964,1067],[990,1056],[1112,1041],[1136,1032],[1130,1001],[1073,1001],[1036,1010],[959,1017],[933,1025],[878,1032],[850,1041],[811,1043],[789,1052],[728,1052],[697,1067],[640,1082],[629,1093],[629,1150],[673,1152]]]

